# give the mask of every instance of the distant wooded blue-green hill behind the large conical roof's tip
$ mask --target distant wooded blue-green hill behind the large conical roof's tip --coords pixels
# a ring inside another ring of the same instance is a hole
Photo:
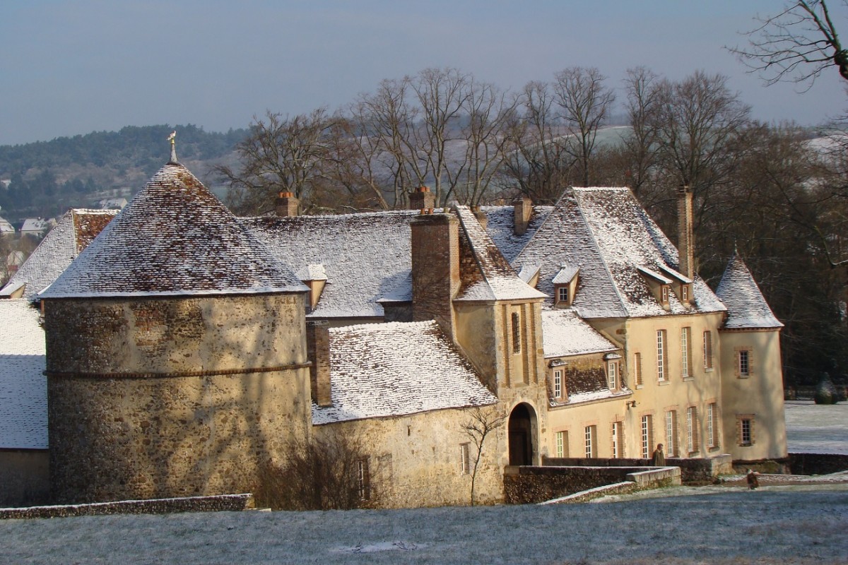
[[[248,134],[244,129],[208,132],[195,125],[128,126],[0,146],[0,216],[20,229],[25,218],[98,208],[99,201],[110,198],[129,200],[168,161],[172,130],[180,162],[213,189],[212,166],[232,164],[233,147]]]

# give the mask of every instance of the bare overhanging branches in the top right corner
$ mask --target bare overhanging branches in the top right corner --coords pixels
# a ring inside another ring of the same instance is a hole
[[[843,0],[843,5],[848,3]],[[848,50],[825,0],[798,0],[779,14],[758,18],[760,25],[746,32],[748,47],[730,49],[766,84],[790,81],[809,89],[824,69],[835,66],[848,80]]]

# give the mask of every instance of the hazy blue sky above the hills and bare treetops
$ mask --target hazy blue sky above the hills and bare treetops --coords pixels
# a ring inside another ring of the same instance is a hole
[[[124,125],[244,127],[266,109],[335,109],[382,79],[444,66],[513,89],[574,65],[598,67],[611,86],[637,65],[672,79],[703,69],[730,76],[758,119],[816,125],[848,108],[835,70],[799,94],[762,86],[723,48],[781,5],[4,0],[0,144]]]

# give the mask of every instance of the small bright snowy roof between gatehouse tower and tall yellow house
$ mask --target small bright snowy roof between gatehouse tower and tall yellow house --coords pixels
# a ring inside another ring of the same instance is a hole
[[[618,346],[600,335],[572,309],[543,310],[542,335],[544,357],[568,357],[587,353],[611,352]]]

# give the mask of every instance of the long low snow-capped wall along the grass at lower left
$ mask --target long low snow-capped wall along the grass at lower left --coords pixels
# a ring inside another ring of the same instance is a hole
[[[0,508],[0,519],[63,518],[106,514],[170,514],[173,512],[240,512],[254,507],[254,496],[220,495],[162,498],[149,501],[97,502],[65,506]]]

